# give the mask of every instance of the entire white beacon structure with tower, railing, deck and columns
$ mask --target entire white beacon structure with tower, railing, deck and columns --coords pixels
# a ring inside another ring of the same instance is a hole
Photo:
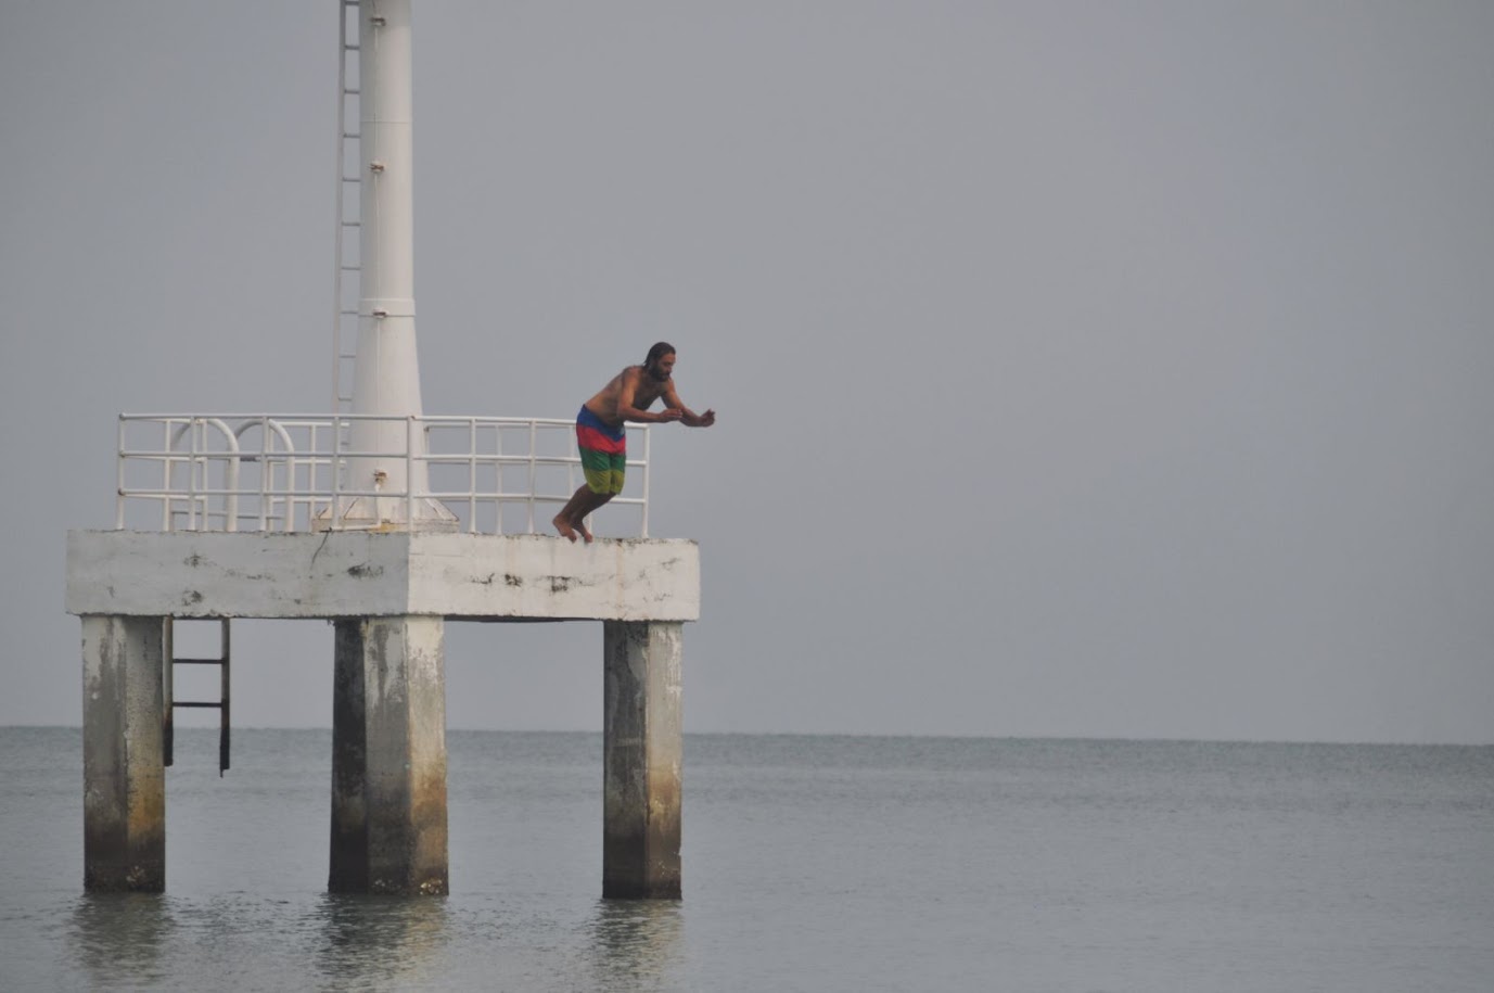
[[[339,272],[359,278],[350,405],[339,386],[326,414],[120,416],[115,526],[67,534],[66,607],[84,636],[84,885],[164,890],[170,716],[217,707],[227,769],[230,622],[282,618],[336,630],[329,890],[445,893],[447,621],[601,621],[602,894],[678,897],[681,633],[699,618],[699,550],[648,537],[645,428],[630,492],[608,505],[636,513],[636,537],[580,544],[542,532],[545,505],[569,499],[580,474],[569,419],[423,411],[411,3],[332,1],[339,58],[357,52],[359,67],[353,85],[339,81],[339,117],[353,102],[360,121],[359,215],[338,227]],[[335,354],[341,384],[338,335]],[[433,470],[463,482],[432,489]],[[182,619],[218,622],[221,658],[176,658]],[[202,661],[221,665],[221,700],[175,700],[175,665]]]

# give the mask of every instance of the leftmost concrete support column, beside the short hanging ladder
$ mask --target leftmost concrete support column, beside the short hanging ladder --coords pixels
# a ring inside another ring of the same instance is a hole
[[[166,890],[163,622],[82,618],[85,890]]]

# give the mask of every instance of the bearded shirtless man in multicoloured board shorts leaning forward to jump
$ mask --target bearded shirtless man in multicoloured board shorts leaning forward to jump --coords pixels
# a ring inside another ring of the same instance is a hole
[[[575,491],[571,502],[551,522],[568,540],[575,541],[580,534],[590,544],[587,514],[623,492],[623,473],[627,467],[626,422],[665,425],[678,420],[686,428],[710,428],[716,423],[714,410],[696,414],[680,401],[672,375],[674,345],[660,341],[648,350],[642,365],[627,366],[581,405],[581,413],[575,417],[575,441],[581,449],[586,485]],[[650,414],[648,407],[660,396],[665,408]]]

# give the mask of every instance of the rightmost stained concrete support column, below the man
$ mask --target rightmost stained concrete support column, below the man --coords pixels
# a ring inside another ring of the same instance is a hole
[[[602,627],[604,897],[680,899],[683,627]]]

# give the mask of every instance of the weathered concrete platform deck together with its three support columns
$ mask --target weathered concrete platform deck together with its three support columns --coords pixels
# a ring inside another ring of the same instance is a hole
[[[420,531],[72,531],[84,881],[166,887],[164,621],[336,624],[329,890],[444,894],[447,621],[602,621],[604,896],[680,896],[689,540]],[[241,665],[252,660],[241,660]]]

